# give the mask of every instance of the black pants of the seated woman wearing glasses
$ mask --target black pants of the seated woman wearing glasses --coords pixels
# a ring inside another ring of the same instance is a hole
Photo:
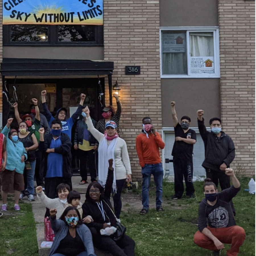
[[[93,245],[97,249],[109,251],[113,256],[135,256],[135,241],[124,234],[119,241],[114,241],[110,236],[102,236],[95,228],[90,228]]]

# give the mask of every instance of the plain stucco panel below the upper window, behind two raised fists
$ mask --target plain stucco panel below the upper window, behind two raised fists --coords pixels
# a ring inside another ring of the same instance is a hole
[[[178,119],[191,118],[190,127],[197,127],[197,110],[205,111],[208,126],[211,117],[220,117],[220,79],[161,79],[163,127],[173,127],[171,101],[176,102]]]

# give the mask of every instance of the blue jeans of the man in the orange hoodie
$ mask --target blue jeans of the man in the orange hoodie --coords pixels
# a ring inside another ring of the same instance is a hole
[[[162,194],[163,194],[163,179],[164,170],[162,163],[160,164],[145,164],[141,170],[142,173],[142,205],[143,209],[149,208],[149,185],[151,174],[154,176],[154,182],[156,185],[156,208],[162,207]]]

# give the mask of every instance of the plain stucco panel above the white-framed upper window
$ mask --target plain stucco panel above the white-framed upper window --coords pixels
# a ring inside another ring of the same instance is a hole
[[[218,0],[160,0],[160,26],[218,26]]]

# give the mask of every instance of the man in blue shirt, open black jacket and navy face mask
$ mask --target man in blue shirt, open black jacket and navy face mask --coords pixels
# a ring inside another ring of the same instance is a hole
[[[62,132],[59,120],[51,122],[51,133],[44,137],[44,128],[39,129],[39,150],[42,152],[40,172],[44,174],[45,194],[56,198],[56,188],[60,183],[66,183],[72,190],[71,141]]]

